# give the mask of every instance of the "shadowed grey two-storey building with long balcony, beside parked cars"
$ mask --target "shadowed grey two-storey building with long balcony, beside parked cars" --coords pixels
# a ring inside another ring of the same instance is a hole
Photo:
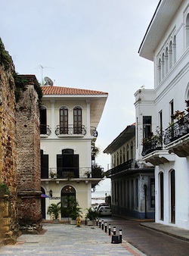
[[[104,149],[110,154],[112,213],[138,219],[154,219],[154,167],[135,161],[135,123]]]

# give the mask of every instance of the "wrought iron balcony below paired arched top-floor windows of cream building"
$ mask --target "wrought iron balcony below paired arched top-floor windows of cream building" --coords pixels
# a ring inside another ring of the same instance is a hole
[[[60,126],[57,125],[55,130],[55,134],[58,135],[73,135],[73,134],[82,134],[83,136],[86,134],[85,126],[74,126],[73,124],[69,124],[68,126]]]

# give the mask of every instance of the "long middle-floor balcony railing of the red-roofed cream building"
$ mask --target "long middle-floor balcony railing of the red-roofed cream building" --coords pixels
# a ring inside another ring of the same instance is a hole
[[[104,177],[103,168],[90,168],[90,167],[52,167],[41,168],[42,179],[86,179],[97,178],[102,179]]]

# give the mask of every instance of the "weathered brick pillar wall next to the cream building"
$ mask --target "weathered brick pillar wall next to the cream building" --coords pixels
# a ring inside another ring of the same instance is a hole
[[[36,76],[21,76],[24,86],[17,102],[17,192],[21,231],[39,233],[42,229],[40,130]]]

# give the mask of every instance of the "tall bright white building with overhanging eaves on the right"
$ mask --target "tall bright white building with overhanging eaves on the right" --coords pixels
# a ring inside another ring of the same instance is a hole
[[[189,229],[189,1],[162,0],[139,55],[154,88],[135,92],[136,158],[155,167],[156,223]]]

